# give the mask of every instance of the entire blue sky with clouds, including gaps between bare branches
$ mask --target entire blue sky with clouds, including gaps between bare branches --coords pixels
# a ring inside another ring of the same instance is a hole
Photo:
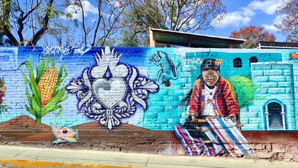
[[[59,0],[63,1],[63,0]],[[98,18],[98,10],[97,10],[97,4],[94,3],[95,0],[83,0],[84,4],[84,13],[85,13],[85,21],[86,21],[86,28],[92,28],[94,27],[94,23]],[[223,36],[228,37],[232,31],[239,30],[240,28],[243,28],[244,26],[249,25],[256,25],[256,26],[264,26],[265,30],[267,30],[269,33],[273,33],[277,38],[276,42],[283,42],[285,41],[286,37],[282,36],[281,33],[277,33],[277,29],[274,27],[274,24],[280,23],[282,19],[275,13],[276,7],[284,0],[221,0],[225,3],[226,6],[226,15],[225,18],[219,22],[217,25],[215,25],[215,28],[213,31],[207,31],[207,32],[200,32],[196,31],[194,33],[205,33],[207,35],[215,35],[215,36]],[[116,0],[111,1],[113,2],[113,6],[117,7],[118,3]],[[24,6],[25,8],[25,6]],[[68,6],[65,9],[61,9],[63,12],[69,12],[72,13],[73,18],[77,18],[79,22],[82,22],[82,16],[81,16],[81,10],[78,10],[78,8],[74,8],[73,6]],[[103,17],[109,18],[109,11],[110,9],[108,7],[104,8],[103,10]],[[75,13],[76,11],[76,13]],[[111,17],[111,18],[114,18]],[[63,22],[63,18],[62,22]],[[64,20],[65,21],[65,20]],[[108,25],[108,20],[106,19],[105,25]],[[73,23],[68,22],[69,26],[73,28]],[[103,25],[102,23],[100,25]],[[81,25],[79,25],[80,27]],[[77,44],[80,44],[81,39],[83,39],[82,34],[83,31],[80,30],[80,28],[74,28],[76,30],[75,32],[75,41],[71,41],[68,45],[75,46]],[[72,29],[70,31],[73,31]],[[99,29],[99,32],[102,33],[102,31]],[[16,36],[16,31],[13,32]],[[92,37],[93,37],[94,29],[91,30],[89,33],[90,40],[88,40],[88,45],[90,46],[90,43],[92,43]],[[97,33],[97,37],[101,36],[101,33]],[[114,32],[117,34],[117,32]],[[26,36],[29,35],[31,38],[31,31],[28,29],[25,32]],[[29,39],[30,39],[29,38]],[[66,37],[63,37],[66,39]],[[38,42],[38,45],[57,45],[54,41],[51,40],[52,37],[49,36],[43,40],[40,40]],[[46,41],[46,42],[45,42]],[[53,41],[52,43],[50,43]]]

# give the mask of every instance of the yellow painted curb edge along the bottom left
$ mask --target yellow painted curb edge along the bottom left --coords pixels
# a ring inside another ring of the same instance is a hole
[[[107,166],[98,164],[82,164],[82,163],[68,163],[68,162],[49,162],[49,161],[31,161],[31,160],[13,160],[0,159],[1,166],[6,167],[40,167],[40,168],[137,168],[133,166]]]

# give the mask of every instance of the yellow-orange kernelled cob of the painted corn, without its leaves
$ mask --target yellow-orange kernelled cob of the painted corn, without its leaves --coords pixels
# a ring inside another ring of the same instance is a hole
[[[53,97],[58,80],[58,69],[50,66],[46,68],[44,74],[40,78],[37,87],[41,95],[41,107],[46,104]]]

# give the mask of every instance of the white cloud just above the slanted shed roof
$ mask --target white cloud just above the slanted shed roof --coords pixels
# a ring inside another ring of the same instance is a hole
[[[235,28],[240,25],[247,25],[252,20],[251,17],[256,14],[253,10],[247,7],[241,7],[239,9],[240,10],[238,11],[227,13],[224,19],[221,22],[219,22],[217,25],[215,25],[215,27],[216,28],[226,28],[226,27]]]

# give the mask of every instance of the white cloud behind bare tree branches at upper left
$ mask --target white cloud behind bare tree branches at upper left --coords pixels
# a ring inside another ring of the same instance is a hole
[[[98,9],[94,7],[89,1],[84,0],[82,1],[83,10],[84,10],[84,17],[88,17],[91,14],[98,14]],[[66,7],[65,11],[67,13],[72,13],[73,19],[78,19],[82,21],[82,9],[75,5],[69,5]]]

